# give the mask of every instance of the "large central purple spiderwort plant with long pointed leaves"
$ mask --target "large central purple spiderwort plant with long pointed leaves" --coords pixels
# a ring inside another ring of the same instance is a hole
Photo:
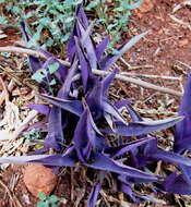
[[[26,33],[25,23],[22,23],[22,28],[28,40],[31,37]],[[182,173],[181,178],[178,176],[176,180],[177,172],[174,172],[165,180],[165,178],[145,170],[147,163],[156,160],[171,162],[183,170],[190,169],[190,159],[177,153],[158,149],[156,137],[150,134],[177,124],[182,117],[144,121],[133,110],[129,100],[115,105],[110,102],[108,89],[117,70],[104,78],[93,74],[95,69],[108,70],[146,33],[133,37],[121,46],[116,54],[106,56],[108,37],[96,45],[91,35],[91,28],[92,25],[88,24],[83,5],[80,4],[76,8],[76,21],[68,44],[68,58],[71,64],[69,70],[55,56],[41,49],[38,50],[46,56],[45,61],[28,57],[32,75],[38,70],[47,71],[49,63],[58,63],[53,75],[58,78],[59,90],[50,93],[47,89],[50,83],[44,80],[37,94],[50,106],[28,105],[29,108],[38,110],[48,118],[44,147],[45,151],[52,148],[56,154],[45,155],[38,151],[32,156],[3,157],[0,158],[0,162],[36,162],[53,168],[94,169],[96,182],[89,195],[88,207],[95,206],[107,172],[110,172],[117,180],[119,190],[129,195],[133,202],[148,199],[148,197],[133,193],[132,187],[140,183],[159,182],[159,184],[162,183],[160,191],[168,192],[169,188],[165,187],[168,183],[174,184],[171,188],[177,188],[177,183],[182,184],[183,179],[190,181],[186,173],[187,176],[183,176]],[[119,112],[119,108],[122,106],[127,107],[132,118],[131,122],[127,122]],[[114,136],[122,138],[122,142],[115,143]],[[136,139],[131,142],[131,136],[136,136]],[[159,188],[157,190],[159,191]],[[179,193],[190,194],[190,191],[179,191]]]

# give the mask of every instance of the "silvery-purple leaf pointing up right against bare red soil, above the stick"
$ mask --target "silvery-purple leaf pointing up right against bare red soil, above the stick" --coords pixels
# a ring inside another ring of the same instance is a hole
[[[130,39],[130,41],[128,41],[124,46],[122,46],[117,54],[108,54],[106,58],[104,58],[100,62],[100,69],[108,70],[124,52],[127,52],[131,47],[133,47],[146,34],[147,32],[136,35],[135,37]]]

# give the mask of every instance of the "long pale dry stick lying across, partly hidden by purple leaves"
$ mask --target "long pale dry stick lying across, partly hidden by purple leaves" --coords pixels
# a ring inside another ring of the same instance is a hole
[[[40,51],[35,51],[35,50],[32,50],[32,49],[20,48],[20,47],[14,47],[14,46],[0,47],[0,52],[17,52],[17,53],[26,53],[26,54],[35,56],[35,57],[43,58],[43,59],[46,58],[45,54],[41,53]],[[60,59],[59,59],[59,61],[63,65],[70,66],[69,62],[60,60]],[[93,70],[93,73],[95,75],[99,75],[99,76],[106,76],[106,75],[109,74],[108,71],[100,71],[100,70]],[[157,92],[162,92],[162,93],[165,93],[165,94],[170,94],[170,95],[179,96],[179,97],[182,96],[182,93],[180,93],[180,92],[176,92],[176,90],[170,89],[170,88],[156,86],[154,84],[151,84],[151,83],[147,83],[147,82],[144,82],[144,81],[141,81],[141,80],[136,80],[136,78],[133,78],[133,77],[127,77],[127,76],[121,75],[121,74],[117,74],[116,78],[120,80],[120,81],[123,81],[123,82],[128,82],[128,83],[139,85],[141,87],[145,87],[145,88],[148,88],[148,89],[154,89],[154,90],[157,90]]]

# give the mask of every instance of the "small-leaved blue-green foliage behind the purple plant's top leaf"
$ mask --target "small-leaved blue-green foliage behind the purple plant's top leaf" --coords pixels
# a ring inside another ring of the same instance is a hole
[[[27,20],[34,28],[33,44],[46,42],[46,47],[59,46],[69,39],[74,23],[75,7],[83,0],[1,0],[4,10],[11,13],[16,21]],[[120,39],[120,33],[127,29],[131,10],[143,0],[92,0],[86,2],[87,11],[95,11],[97,24],[105,25],[107,33],[112,37],[110,48]],[[110,7],[111,5],[111,7]],[[8,24],[9,20],[1,12],[0,23]],[[41,38],[43,37],[43,38]]]

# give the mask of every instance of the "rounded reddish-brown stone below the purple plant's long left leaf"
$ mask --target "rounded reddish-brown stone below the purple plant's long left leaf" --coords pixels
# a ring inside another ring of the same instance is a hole
[[[39,192],[49,195],[57,184],[57,175],[41,165],[29,165],[24,170],[24,183],[35,197],[38,197]]]

